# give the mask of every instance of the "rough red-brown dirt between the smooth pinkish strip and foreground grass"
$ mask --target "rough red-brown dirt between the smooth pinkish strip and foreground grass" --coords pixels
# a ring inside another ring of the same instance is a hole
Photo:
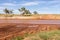
[[[21,36],[26,32],[36,33],[57,29],[60,29],[59,24],[4,24],[0,28],[0,40],[10,40],[12,37]]]

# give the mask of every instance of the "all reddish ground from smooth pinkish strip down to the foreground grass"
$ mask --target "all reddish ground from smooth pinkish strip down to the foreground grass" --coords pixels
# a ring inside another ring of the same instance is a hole
[[[50,30],[60,30],[60,20],[0,20],[0,40]]]

